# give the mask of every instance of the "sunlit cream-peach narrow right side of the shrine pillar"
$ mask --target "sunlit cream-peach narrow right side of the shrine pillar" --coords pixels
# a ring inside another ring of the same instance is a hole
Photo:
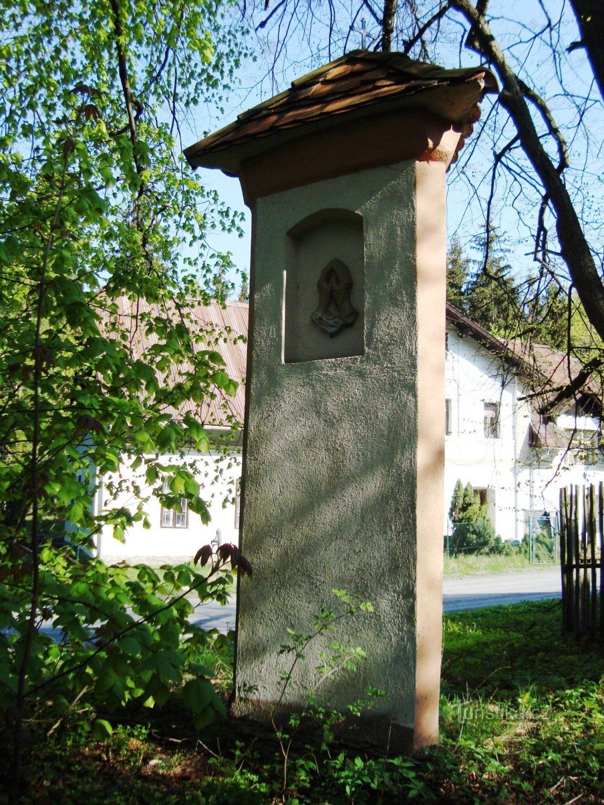
[[[416,163],[416,716],[413,748],[438,743],[441,685],[448,161]]]

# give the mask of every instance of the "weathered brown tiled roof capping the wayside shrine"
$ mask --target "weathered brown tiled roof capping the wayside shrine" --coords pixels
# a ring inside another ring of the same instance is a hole
[[[312,123],[316,130],[333,126],[340,115],[353,119],[402,107],[429,109],[470,134],[480,116],[478,101],[497,91],[497,81],[484,67],[447,70],[402,53],[352,51],[242,112],[184,155],[194,167],[220,167],[236,175],[242,159],[272,147],[273,141],[299,136],[300,126]]]

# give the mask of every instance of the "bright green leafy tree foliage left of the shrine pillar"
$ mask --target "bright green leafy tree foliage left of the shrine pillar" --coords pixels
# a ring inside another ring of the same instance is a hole
[[[139,473],[134,499],[142,481],[208,519],[192,464],[160,456],[207,451],[204,423],[179,411],[236,388],[190,304],[228,265],[205,261],[207,232],[238,218],[191,175],[180,126],[220,104],[242,54],[218,0],[0,7],[0,712],[18,781],[39,696],[64,712],[91,696],[161,703],[181,687],[201,717],[221,707],[181,591],[223,599],[225,561],[209,581],[190,568],[133,579],[74,560],[48,532],[68,522],[89,542],[103,526],[122,538],[146,525],[143,501],[111,501],[129,483],[123,464]],[[63,641],[39,632],[48,620]]]

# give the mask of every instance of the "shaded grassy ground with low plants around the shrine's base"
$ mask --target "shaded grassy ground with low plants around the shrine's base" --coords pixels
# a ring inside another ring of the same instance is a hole
[[[441,747],[422,758],[346,755],[332,743],[292,753],[284,780],[277,741],[253,745],[234,725],[196,733],[167,704],[151,719],[110,715],[105,743],[78,723],[50,739],[33,725],[23,802],[602,803],[602,646],[561,636],[560,623],[552,601],[447,616]],[[226,694],[230,657],[213,662]]]

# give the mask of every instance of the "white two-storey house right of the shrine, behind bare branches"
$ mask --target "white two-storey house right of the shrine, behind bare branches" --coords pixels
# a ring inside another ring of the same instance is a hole
[[[522,539],[536,513],[554,517],[562,486],[604,481],[600,391],[584,382],[556,402],[581,368],[571,357],[569,377],[564,353],[504,343],[447,305],[445,527],[457,478],[503,539]]]

